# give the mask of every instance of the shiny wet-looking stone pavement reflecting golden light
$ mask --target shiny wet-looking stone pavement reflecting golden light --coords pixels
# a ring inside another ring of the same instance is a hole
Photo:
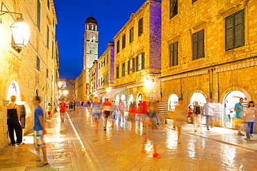
[[[47,154],[49,165],[37,168],[33,134],[24,136],[25,145],[8,146],[0,152],[3,170],[257,170],[257,135],[251,141],[236,135],[233,129],[204,125],[194,133],[192,125],[183,127],[181,143],[167,120],[160,129],[158,154],[153,157],[151,143],[147,155],[141,153],[142,125],[136,122],[135,134],[130,123],[116,122],[103,131],[103,119],[95,131],[87,108],[79,114],[68,111],[65,123],[59,113],[47,120]],[[108,124],[110,124],[108,122]],[[41,156],[42,159],[42,156]]]

